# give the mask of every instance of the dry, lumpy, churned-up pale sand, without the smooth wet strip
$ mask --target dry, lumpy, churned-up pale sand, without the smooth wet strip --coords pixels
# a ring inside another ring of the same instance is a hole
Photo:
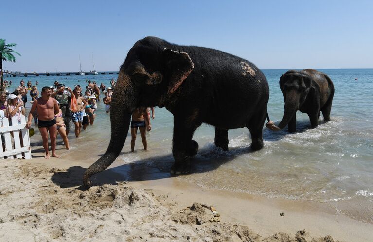
[[[334,241],[305,230],[263,238],[246,226],[221,223],[212,206],[195,202],[180,210],[126,182],[82,190],[77,174],[19,160],[1,161],[0,171],[3,241]]]

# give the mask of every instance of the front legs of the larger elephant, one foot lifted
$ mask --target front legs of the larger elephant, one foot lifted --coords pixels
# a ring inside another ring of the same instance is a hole
[[[193,133],[197,127],[186,127],[182,123],[175,121],[172,155],[175,163],[171,167],[171,174],[179,175],[191,172],[190,157],[198,152],[198,143],[193,138]]]

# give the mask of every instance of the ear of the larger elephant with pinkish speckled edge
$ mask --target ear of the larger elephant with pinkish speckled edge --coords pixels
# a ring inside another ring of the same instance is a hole
[[[170,96],[192,72],[194,64],[186,52],[164,48],[162,54],[165,76],[168,79],[167,96]]]

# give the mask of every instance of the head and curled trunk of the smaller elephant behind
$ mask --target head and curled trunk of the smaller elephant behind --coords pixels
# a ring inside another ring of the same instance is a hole
[[[304,103],[311,87],[312,78],[304,70],[289,70],[280,77],[280,89],[284,95],[284,116],[279,125],[270,129],[279,131],[286,127],[295,112]]]

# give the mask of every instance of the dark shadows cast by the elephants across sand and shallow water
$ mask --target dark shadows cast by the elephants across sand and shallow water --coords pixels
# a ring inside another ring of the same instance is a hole
[[[297,132],[302,133],[311,126],[309,121],[297,122]],[[270,141],[278,141],[288,135],[287,128],[279,132],[273,132],[269,129],[263,130],[263,139]],[[265,149],[266,147],[264,147]],[[191,173],[205,173],[217,169],[222,164],[230,162],[237,156],[255,152],[249,147],[233,148],[228,152],[222,151],[220,148],[211,149],[211,147],[201,148],[198,154],[190,159]],[[121,152],[120,155],[126,155],[129,152]],[[99,154],[99,157],[103,154]],[[133,161],[128,164],[109,168],[101,173],[91,177],[93,186],[103,184],[117,184],[120,181],[145,181],[157,180],[171,177],[170,168],[174,163],[172,154],[145,158],[142,160]],[[84,190],[82,185],[83,174],[86,168],[81,166],[72,166],[65,172],[56,172],[52,176],[52,181],[61,188],[80,186],[78,189]],[[188,175],[188,174],[186,174]]]

